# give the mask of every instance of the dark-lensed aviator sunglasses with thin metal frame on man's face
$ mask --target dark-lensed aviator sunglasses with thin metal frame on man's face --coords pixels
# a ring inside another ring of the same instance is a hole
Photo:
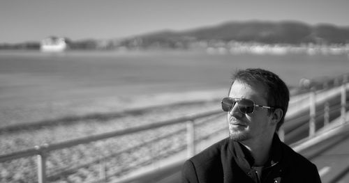
[[[272,106],[257,105],[252,100],[244,98],[225,97],[223,98],[221,103],[223,111],[226,112],[230,112],[232,110],[232,107],[234,107],[236,103],[239,108],[239,111],[242,113],[253,113],[253,111],[255,111],[255,106],[259,106],[266,109],[274,109],[274,107]]]

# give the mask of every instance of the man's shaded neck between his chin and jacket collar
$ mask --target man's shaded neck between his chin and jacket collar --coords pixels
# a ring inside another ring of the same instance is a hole
[[[269,159],[269,151],[272,147],[273,136],[260,138],[262,141],[243,141],[241,142],[250,152],[255,160],[253,166],[264,166]]]

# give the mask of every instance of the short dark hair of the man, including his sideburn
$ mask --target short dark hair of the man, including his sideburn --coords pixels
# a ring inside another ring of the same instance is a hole
[[[285,120],[285,114],[288,109],[288,101],[290,100],[290,92],[286,84],[273,72],[262,70],[260,68],[248,68],[246,70],[237,70],[232,75],[232,83],[234,81],[242,81],[244,83],[261,83],[267,91],[267,105],[273,106],[275,109],[283,110],[283,116],[276,125],[276,132],[279,131]],[[231,88],[231,87],[230,87]],[[229,91],[230,93],[230,91]],[[269,109],[269,113],[275,109]]]

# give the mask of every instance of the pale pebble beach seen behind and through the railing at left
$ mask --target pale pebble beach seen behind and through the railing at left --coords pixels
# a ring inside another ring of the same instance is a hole
[[[1,133],[1,152],[7,154],[33,148],[34,145],[43,143],[58,143],[219,109],[219,95],[217,97],[216,92],[158,95],[153,96],[151,103],[149,103],[149,98],[145,100],[143,97],[143,100],[138,98],[138,103],[128,101],[128,106],[122,109],[124,111],[138,109],[136,110],[138,113],[125,112],[124,115],[107,119],[86,120],[82,118],[70,124],[3,132]],[[95,105],[96,110],[94,111],[110,112],[108,104],[111,103]],[[118,113],[122,114],[122,104],[119,102],[118,105],[120,107]],[[117,107],[113,108],[117,109]],[[78,110],[85,113],[89,111],[82,108]],[[208,138],[207,136],[212,132],[226,133],[224,132],[225,125],[225,118],[222,116],[198,120],[195,128],[196,139]],[[183,151],[186,148],[185,128],[185,123],[172,125],[55,150],[47,157],[47,179],[50,182],[98,182],[101,177],[107,181],[117,180],[137,168],[149,166]],[[0,182],[37,181],[35,157],[1,163],[0,170]]]

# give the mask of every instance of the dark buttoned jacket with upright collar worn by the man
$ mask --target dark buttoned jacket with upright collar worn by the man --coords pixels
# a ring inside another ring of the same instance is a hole
[[[182,182],[321,182],[316,166],[276,134],[260,179],[251,165],[253,158],[244,145],[225,138],[184,163]]]

